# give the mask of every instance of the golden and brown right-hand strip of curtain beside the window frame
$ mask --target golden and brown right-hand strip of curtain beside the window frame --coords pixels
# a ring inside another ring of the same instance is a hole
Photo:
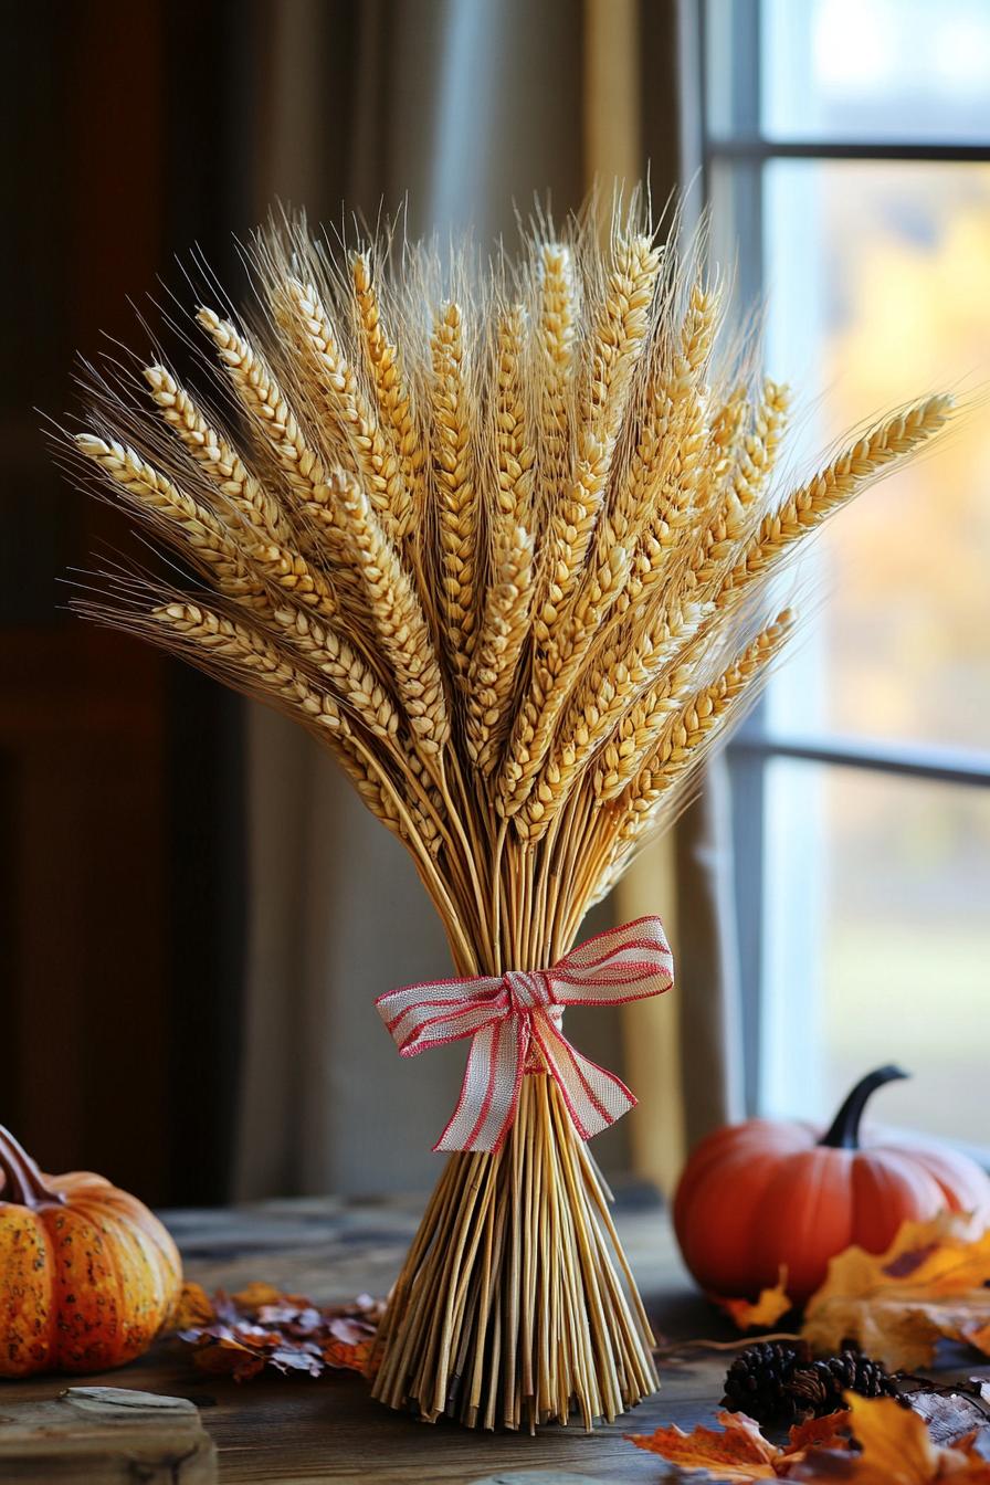
[[[698,59],[690,10],[674,0],[586,0],[585,138],[591,180],[652,171],[655,198],[692,181]],[[644,71],[646,61],[646,71]],[[668,105],[647,119],[644,76]],[[681,85],[678,88],[678,85]],[[660,141],[666,154],[658,159]],[[658,165],[662,169],[658,172]],[[698,202],[687,203],[686,230]],[[660,912],[675,953],[675,992],[623,1008],[625,1059],[640,1108],[629,1118],[632,1167],[669,1191],[687,1149],[742,1112],[742,1069],[727,781],[714,765],[677,827],[647,846],[612,895],[616,921]]]

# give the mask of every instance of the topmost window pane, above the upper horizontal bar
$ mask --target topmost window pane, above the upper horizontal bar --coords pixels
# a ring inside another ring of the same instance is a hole
[[[761,45],[770,138],[990,140],[987,0],[763,0]]]

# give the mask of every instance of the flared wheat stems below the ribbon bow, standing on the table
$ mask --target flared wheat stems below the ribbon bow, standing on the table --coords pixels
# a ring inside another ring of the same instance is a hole
[[[528,1074],[505,1148],[444,1169],[381,1322],[373,1396],[427,1423],[530,1432],[576,1406],[591,1429],[653,1391],[652,1344],[601,1178],[555,1083]]]

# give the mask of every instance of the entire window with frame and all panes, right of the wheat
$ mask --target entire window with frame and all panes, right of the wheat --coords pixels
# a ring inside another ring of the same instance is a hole
[[[819,1120],[896,1060],[885,1117],[990,1146],[990,6],[698,15],[714,251],[767,296],[794,472],[898,401],[972,404],[819,538],[729,750],[750,1106]]]

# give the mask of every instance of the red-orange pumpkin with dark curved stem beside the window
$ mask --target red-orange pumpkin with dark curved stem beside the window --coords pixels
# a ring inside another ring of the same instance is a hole
[[[880,1253],[901,1222],[945,1207],[990,1221],[990,1176],[966,1155],[917,1139],[861,1139],[870,1094],[904,1077],[871,1072],[821,1136],[809,1124],[753,1118],[698,1145],[677,1187],[674,1228],[702,1289],[755,1296],[787,1265],[787,1292],[801,1302],[850,1243]]]

